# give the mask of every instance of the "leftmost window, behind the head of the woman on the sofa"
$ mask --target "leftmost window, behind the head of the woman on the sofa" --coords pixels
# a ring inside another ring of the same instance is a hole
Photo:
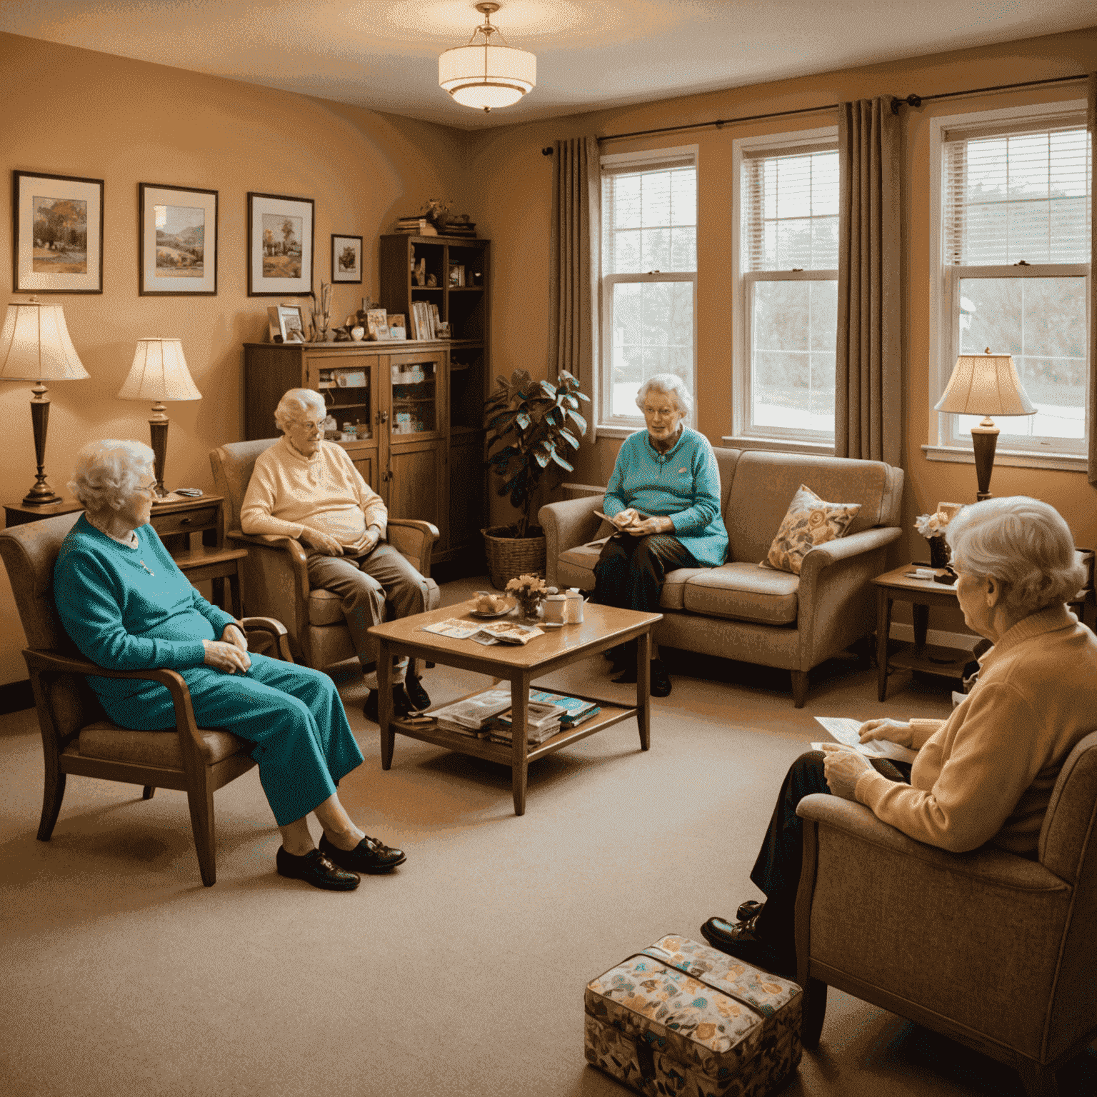
[[[641,384],[675,373],[694,392],[697,150],[606,156],[600,426],[634,430]]]

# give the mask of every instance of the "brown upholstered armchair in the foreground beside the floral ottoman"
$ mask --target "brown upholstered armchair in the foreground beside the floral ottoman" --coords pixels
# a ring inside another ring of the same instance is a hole
[[[949,853],[805,796],[796,897],[804,1047],[836,986],[1014,1066],[1030,1097],[1097,1036],[1097,732],[1071,751],[1036,860]]]

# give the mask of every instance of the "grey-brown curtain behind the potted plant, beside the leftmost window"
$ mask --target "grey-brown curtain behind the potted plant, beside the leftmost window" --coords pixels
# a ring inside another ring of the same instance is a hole
[[[558,140],[553,151],[548,250],[548,376],[576,376],[590,397],[587,438],[598,422],[601,173],[596,137]]]

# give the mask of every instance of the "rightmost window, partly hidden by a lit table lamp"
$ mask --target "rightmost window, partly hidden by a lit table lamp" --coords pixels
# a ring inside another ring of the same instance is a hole
[[[936,403],[957,357],[1008,351],[1033,416],[996,419],[998,449],[1083,454],[1086,438],[1089,137],[1084,104],[938,122],[940,278]],[[939,414],[943,446],[975,416]]]

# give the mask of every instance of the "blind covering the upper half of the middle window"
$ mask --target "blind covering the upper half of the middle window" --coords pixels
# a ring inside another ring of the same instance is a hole
[[[744,271],[836,270],[838,150],[747,152],[743,158]]]

